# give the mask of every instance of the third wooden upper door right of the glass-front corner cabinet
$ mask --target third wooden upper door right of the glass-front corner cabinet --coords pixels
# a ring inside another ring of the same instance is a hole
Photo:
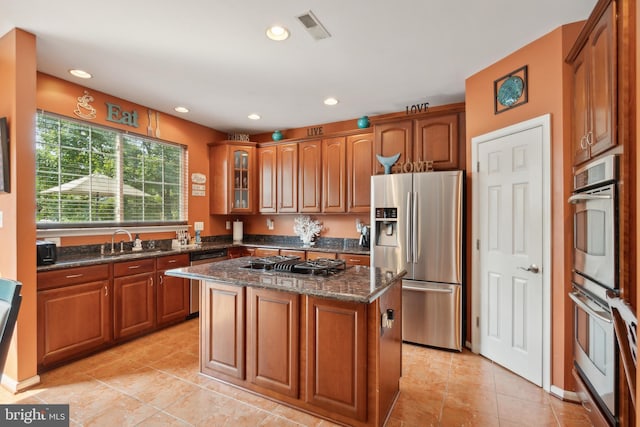
[[[298,212],[320,212],[322,197],[322,143],[298,144]]]

